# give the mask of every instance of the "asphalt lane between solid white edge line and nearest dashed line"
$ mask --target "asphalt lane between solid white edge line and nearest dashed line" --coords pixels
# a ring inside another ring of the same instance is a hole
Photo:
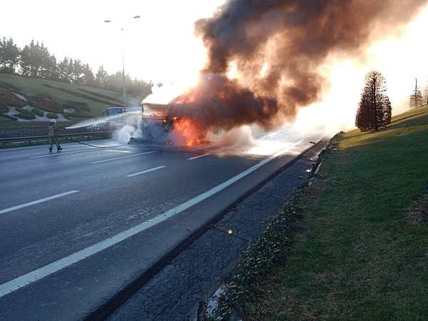
[[[101,183],[64,198],[1,215],[0,242],[4,244],[0,250],[4,258],[0,270],[1,281],[11,280],[31,268],[46,265],[163,213],[242,168],[237,159],[228,160],[232,163],[228,166],[225,160],[205,158],[219,169],[208,170],[208,173],[214,174],[210,176],[205,173],[206,165],[202,164],[202,159],[193,162],[193,165],[189,165],[189,161],[187,165],[180,165],[174,155],[169,157],[171,170],[163,175],[148,173],[143,175],[144,180],[141,177],[129,178],[128,182],[123,178],[115,179],[122,184],[117,183],[114,190],[109,187],[111,185]],[[232,170],[224,170],[228,167]],[[193,168],[198,169],[196,175],[193,175]],[[75,176],[92,180],[89,175]],[[131,181],[133,184],[128,184]],[[177,188],[174,188],[175,184],[178,184]]]

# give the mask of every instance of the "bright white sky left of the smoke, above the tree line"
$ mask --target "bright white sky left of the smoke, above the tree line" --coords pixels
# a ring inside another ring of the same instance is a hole
[[[101,65],[108,73],[122,70],[123,40],[126,73],[168,81],[188,65],[203,64],[193,22],[210,16],[223,1],[6,1],[1,4],[0,37],[11,37],[21,49],[31,39],[43,42],[57,61],[77,58],[93,73]]]

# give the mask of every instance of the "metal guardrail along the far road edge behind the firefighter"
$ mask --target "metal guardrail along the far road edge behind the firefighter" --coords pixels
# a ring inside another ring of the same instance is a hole
[[[88,126],[81,128],[66,128],[57,126],[58,134],[63,138],[91,137],[91,136],[111,136],[122,126]],[[11,127],[0,128],[0,143],[22,143],[32,141],[44,141],[48,137],[47,126],[39,127]]]

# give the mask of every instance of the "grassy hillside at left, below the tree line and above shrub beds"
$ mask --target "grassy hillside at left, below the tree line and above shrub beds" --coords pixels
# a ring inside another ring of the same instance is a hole
[[[48,86],[46,86],[48,85]],[[52,88],[55,87],[55,88]],[[61,91],[60,89],[65,91]],[[88,116],[99,117],[108,107],[122,106],[122,93],[106,91],[87,86],[73,85],[71,83],[61,83],[58,81],[48,81],[38,78],[30,78],[18,75],[8,75],[0,73],[0,90],[6,89],[15,93],[20,93],[26,97],[47,94],[61,106],[67,101],[83,101],[88,103],[90,111],[85,111]],[[71,91],[66,92],[66,91]],[[93,94],[91,94],[93,93]],[[104,102],[101,102],[104,101]],[[139,106],[141,97],[127,96],[128,105]],[[1,119],[0,126],[7,123],[15,123],[6,118]],[[28,125],[28,123],[26,124]]]

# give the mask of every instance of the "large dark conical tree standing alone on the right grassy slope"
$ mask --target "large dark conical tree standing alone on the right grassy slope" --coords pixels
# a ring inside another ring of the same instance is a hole
[[[370,71],[365,76],[355,126],[360,131],[379,131],[391,123],[392,108],[387,96],[386,81],[379,71]]]

